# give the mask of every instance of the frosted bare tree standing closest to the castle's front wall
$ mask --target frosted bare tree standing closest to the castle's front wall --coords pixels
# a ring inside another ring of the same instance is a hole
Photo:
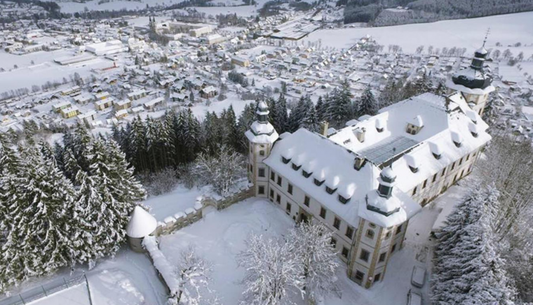
[[[306,297],[313,302],[321,301],[326,295],[336,293],[336,271],[339,268],[337,253],[331,246],[333,233],[320,223],[302,222],[292,229],[288,243],[294,245],[293,255],[301,260],[305,281]]]

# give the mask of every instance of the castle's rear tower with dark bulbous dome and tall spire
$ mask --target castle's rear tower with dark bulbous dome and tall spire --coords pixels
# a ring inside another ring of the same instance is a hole
[[[470,66],[457,71],[446,82],[448,92],[461,92],[468,106],[479,115],[483,115],[489,94],[494,91],[490,69],[486,64],[491,59],[487,58],[487,54],[483,43],[483,47],[474,52]]]

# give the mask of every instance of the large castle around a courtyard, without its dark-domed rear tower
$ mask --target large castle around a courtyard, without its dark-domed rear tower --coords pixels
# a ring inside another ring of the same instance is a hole
[[[248,177],[257,197],[295,220],[321,222],[347,275],[382,281],[403,247],[410,218],[473,169],[490,141],[464,92],[424,93],[330,134],[278,136],[267,104],[246,132]]]

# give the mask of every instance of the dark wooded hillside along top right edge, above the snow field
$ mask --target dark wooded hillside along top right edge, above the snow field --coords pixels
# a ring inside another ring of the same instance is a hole
[[[533,10],[533,0],[339,0],[344,23],[395,24],[484,17]]]

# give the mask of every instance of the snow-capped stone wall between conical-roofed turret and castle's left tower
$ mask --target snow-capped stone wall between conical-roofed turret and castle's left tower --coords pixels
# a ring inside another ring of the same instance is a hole
[[[201,220],[205,216],[206,210],[210,207],[220,211],[253,196],[254,188],[252,183],[238,183],[234,190],[225,197],[215,193],[205,194],[196,198],[194,208],[187,208],[185,211],[175,213],[173,216],[165,218],[162,222],[158,222],[156,234],[157,236],[172,234]]]

